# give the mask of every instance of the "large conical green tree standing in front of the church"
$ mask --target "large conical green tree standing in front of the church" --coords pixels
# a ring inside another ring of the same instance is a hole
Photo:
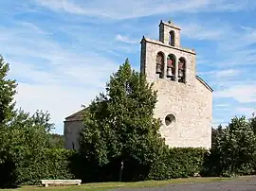
[[[106,94],[96,97],[83,113],[80,152],[88,163],[114,164],[117,172],[123,164],[125,177],[139,171],[132,166],[149,167],[157,160],[164,141],[158,132],[160,121],[154,118],[157,98],[152,86],[128,60],[119,67],[106,84]]]

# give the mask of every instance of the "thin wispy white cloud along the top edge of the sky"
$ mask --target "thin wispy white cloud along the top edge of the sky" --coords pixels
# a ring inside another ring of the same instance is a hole
[[[82,2],[82,0],[36,0],[39,5],[56,11],[65,11],[72,14],[107,17],[111,19],[129,19],[142,16],[150,16],[163,13],[193,12],[199,11],[235,11],[248,7],[246,0],[238,0],[229,3],[229,0],[140,0],[130,1],[123,5],[119,0],[94,0]],[[181,6],[182,4],[182,6]],[[250,4],[252,7],[252,5]]]

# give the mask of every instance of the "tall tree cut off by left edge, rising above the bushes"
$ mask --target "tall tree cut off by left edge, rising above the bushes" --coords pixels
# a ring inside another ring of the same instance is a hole
[[[14,114],[16,82],[7,78],[9,63],[0,55],[0,126],[7,123]]]

